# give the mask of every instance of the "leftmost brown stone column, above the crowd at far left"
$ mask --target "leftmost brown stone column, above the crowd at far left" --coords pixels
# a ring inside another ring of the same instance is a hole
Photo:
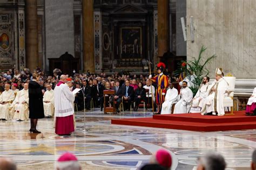
[[[32,72],[38,66],[37,1],[25,1],[26,67]]]

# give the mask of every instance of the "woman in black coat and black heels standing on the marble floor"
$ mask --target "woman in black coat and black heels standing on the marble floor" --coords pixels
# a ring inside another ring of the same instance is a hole
[[[39,81],[40,75],[33,73],[33,80],[29,82],[29,118],[30,118],[30,133],[41,133],[36,130],[37,119],[44,118],[43,93]]]

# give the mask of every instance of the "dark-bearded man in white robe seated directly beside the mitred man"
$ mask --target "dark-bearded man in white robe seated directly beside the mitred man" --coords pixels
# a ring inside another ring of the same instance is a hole
[[[190,107],[191,113],[200,113],[201,109],[204,107],[205,98],[208,96],[209,90],[210,90],[209,81],[210,81],[209,77],[206,76],[203,78],[203,83],[199,87],[196,96],[194,96],[191,102],[191,107]]]

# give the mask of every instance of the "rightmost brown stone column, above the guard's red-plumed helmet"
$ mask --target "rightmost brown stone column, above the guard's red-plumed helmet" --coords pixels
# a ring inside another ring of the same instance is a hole
[[[158,0],[158,56],[169,50],[169,0]]]

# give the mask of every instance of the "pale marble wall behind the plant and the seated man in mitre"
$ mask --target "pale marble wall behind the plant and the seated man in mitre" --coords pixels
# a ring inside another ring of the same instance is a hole
[[[206,56],[218,55],[208,70],[216,67],[237,79],[256,79],[256,1],[187,0],[187,60],[198,57],[201,46]],[[194,41],[190,21],[193,16]],[[253,86],[253,85],[252,85]]]

